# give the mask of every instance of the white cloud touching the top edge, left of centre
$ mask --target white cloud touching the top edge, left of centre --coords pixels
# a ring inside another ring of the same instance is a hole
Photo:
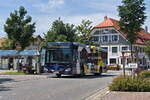
[[[41,12],[51,11],[52,8],[59,7],[64,4],[64,0],[48,0],[47,3],[38,3],[33,5],[38,8]]]

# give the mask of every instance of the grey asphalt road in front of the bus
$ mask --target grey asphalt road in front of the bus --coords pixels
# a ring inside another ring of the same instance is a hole
[[[108,86],[117,74],[109,72],[102,76],[65,76],[26,81],[7,78],[0,83],[0,100],[84,100]]]

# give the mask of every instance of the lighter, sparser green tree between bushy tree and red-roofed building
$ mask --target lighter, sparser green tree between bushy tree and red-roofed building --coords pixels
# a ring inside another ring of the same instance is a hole
[[[92,22],[90,20],[82,20],[81,24],[76,27],[78,33],[78,42],[83,44],[92,44]]]

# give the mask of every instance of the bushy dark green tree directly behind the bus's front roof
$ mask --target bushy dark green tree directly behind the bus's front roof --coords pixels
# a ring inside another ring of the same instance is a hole
[[[76,40],[76,30],[73,24],[65,24],[60,18],[55,20],[52,27],[45,34],[45,41],[42,45],[46,45],[47,42],[74,42]]]

